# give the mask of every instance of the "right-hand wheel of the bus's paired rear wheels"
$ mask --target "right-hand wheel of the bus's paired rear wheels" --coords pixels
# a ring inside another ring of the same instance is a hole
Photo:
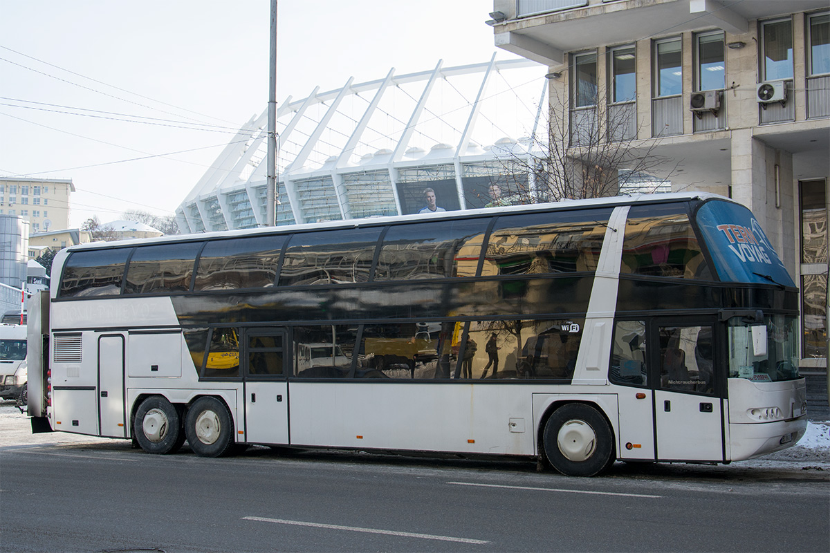
[[[222,401],[204,395],[193,402],[184,420],[190,449],[200,457],[222,457],[233,442],[231,413]]]

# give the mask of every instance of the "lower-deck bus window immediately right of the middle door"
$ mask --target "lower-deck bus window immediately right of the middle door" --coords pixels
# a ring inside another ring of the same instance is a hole
[[[295,375],[300,378],[348,378],[357,327],[294,327]]]

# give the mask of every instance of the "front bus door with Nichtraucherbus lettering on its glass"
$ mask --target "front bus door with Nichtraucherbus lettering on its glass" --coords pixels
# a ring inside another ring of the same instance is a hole
[[[657,459],[724,460],[714,320],[673,318],[652,328]]]

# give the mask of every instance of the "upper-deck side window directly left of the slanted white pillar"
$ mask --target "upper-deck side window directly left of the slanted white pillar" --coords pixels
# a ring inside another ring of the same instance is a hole
[[[610,210],[500,216],[487,243],[483,276],[595,271]]]

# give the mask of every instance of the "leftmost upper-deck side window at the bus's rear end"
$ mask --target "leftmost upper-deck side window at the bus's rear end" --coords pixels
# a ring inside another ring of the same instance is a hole
[[[132,248],[74,252],[66,260],[58,298],[117,296]]]

